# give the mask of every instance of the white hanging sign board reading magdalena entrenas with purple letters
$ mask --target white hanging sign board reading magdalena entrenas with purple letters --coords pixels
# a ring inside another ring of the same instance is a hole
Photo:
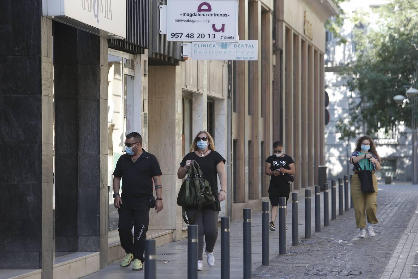
[[[167,0],[167,40],[238,41],[238,1]]]

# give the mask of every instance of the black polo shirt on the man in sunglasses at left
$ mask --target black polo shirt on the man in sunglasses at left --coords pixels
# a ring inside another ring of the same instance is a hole
[[[113,175],[115,177],[122,177],[123,203],[133,204],[138,202],[141,197],[152,196],[152,178],[157,175],[162,175],[157,158],[144,149],[142,151],[141,156],[139,156],[135,163],[128,154],[123,154],[117,160]]]

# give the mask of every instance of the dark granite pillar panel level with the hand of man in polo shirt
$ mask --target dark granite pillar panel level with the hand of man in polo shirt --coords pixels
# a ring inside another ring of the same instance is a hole
[[[100,233],[100,188],[79,188],[78,231],[81,235]]]

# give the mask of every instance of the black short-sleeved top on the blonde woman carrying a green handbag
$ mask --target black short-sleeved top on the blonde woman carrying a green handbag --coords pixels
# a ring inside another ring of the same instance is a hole
[[[218,172],[216,170],[217,164],[223,161],[225,164],[224,157],[221,156],[216,151],[210,151],[205,157],[198,156],[194,152],[190,152],[184,156],[183,160],[180,163],[180,166],[184,167],[186,165],[187,160],[194,160],[199,164],[200,169],[202,170],[203,177],[206,179],[210,187],[212,189],[212,194],[215,197],[215,202],[211,205],[204,205],[202,208],[204,209],[213,209],[217,211],[221,211],[221,204],[219,203],[219,192],[218,192]]]

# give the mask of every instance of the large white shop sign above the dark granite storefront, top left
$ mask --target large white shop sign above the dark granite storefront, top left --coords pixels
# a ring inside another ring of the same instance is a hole
[[[125,0],[42,0],[43,15],[105,37],[126,38]]]

